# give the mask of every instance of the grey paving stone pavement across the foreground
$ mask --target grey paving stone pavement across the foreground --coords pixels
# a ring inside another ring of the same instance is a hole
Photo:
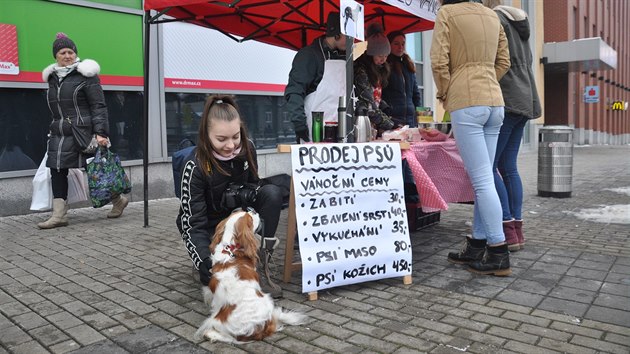
[[[526,248],[513,275],[473,275],[446,261],[469,233],[472,206],[452,204],[413,232],[413,282],[399,278],[301,293],[280,305],[309,322],[262,342],[192,338],[207,316],[175,227],[176,199],[131,203],[122,218],[72,209],[68,227],[38,230],[49,213],[0,218],[0,353],[629,353],[630,224],[574,212],[629,205],[630,146],[574,149],[571,198],[537,193],[537,155],[521,154]],[[286,234],[286,210],[279,234]],[[628,215],[630,219],[630,215]],[[275,255],[281,278],[283,247]]]

